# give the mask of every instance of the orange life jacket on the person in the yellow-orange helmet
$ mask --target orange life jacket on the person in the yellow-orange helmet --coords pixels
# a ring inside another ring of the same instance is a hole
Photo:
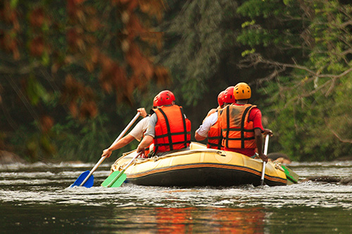
[[[249,112],[256,105],[227,105],[220,114],[222,146],[226,148],[256,148],[253,122],[248,122]]]

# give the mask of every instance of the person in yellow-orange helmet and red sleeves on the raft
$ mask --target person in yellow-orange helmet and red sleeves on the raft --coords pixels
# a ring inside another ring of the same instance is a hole
[[[239,152],[253,157],[258,149],[258,156],[268,162],[268,156],[263,154],[262,134],[270,134],[270,129],[263,129],[262,115],[256,105],[249,104],[251,88],[241,82],[234,86],[236,103],[227,105],[219,115],[222,131],[222,147],[224,150]]]

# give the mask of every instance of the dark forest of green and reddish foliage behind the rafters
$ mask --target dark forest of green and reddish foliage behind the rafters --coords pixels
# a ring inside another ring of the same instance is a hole
[[[0,150],[96,162],[163,89],[194,140],[218,93],[247,82],[269,152],[351,156],[351,59],[348,0],[3,0]]]

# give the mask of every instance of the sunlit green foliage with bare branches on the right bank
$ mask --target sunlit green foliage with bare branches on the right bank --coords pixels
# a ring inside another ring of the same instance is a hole
[[[280,11],[273,11],[274,6]],[[282,51],[273,58],[262,50],[251,63],[281,70],[265,82],[262,90],[269,94],[270,109],[263,112],[279,143],[275,149],[294,160],[334,160],[352,153],[352,136],[346,131],[352,114],[351,7],[320,0],[253,0],[239,7],[253,22],[239,41],[256,46],[256,51],[260,46]],[[284,25],[268,27],[270,18]]]

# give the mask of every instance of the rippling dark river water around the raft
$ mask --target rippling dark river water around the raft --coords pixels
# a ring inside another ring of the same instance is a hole
[[[68,188],[94,164],[0,166],[1,233],[351,233],[352,186],[303,181],[352,176],[352,162],[293,162],[292,186]]]

